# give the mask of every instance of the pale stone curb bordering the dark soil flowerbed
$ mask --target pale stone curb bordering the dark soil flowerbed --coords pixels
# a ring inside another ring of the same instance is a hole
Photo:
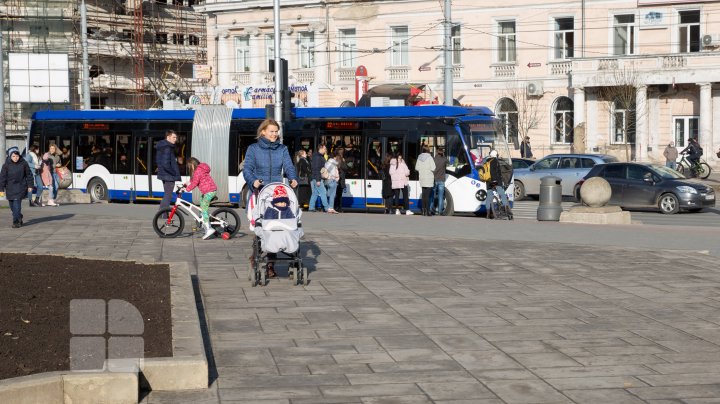
[[[2,250],[2,252],[16,251]],[[140,388],[154,391],[208,388],[208,363],[200,330],[200,319],[195,306],[190,269],[184,262],[165,264],[170,266],[172,357],[143,359],[140,375],[126,372],[58,371],[0,380],[0,403],[125,404],[138,402]],[[108,364],[106,361],[106,369]]]

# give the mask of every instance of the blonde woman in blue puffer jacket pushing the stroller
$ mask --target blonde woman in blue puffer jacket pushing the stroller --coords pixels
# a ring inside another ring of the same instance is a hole
[[[257,130],[257,142],[248,147],[243,169],[245,183],[252,184],[248,200],[252,198],[253,190],[258,190],[263,183],[282,182],[283,174],[290,180],[291,187],[297,187],[295,166],[287,147],[280,141],[279,131],[280,125],[275,120],[264,120]],[[250,257],[250,260],[255,258]],[[268,258],[274,259],[275,254],[268,254]],[[267,274],[269,278],[277,276],[272,262],[268,263]]]

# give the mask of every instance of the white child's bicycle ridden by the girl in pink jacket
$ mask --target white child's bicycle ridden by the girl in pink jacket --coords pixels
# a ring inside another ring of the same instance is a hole
[[[173,238],[180,235],[185,229],[185,218],[181,212],[195,219],[193,232],[202,228],[202,214],[199,206],[183,200],[180,195],[185,188],[178,186],[175,189],[175,205],[160,209],[153,219],[153,229],[162,238]],[[218,208],[210,215],[210,226],[215,229],[223,239],[235,236],[240,230],[240,216],[231,208]]]

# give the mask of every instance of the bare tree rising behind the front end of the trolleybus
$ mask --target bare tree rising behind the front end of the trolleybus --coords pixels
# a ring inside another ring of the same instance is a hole
[[[506,125],[502,128],[509,141],[515,144],[515,148],[520,147],[520,141],[527,136],[531,130],[536,129],[540,125],[540,97],[529,96],[526,91],[525,81],[510,81],[502,93],[503,98],[512,100],[515,105],[515,111],[511,112],[501,105],[500,113],[506,114]],[[502,102],[501,102],[502,104]],[[510,108],[510,105],[507,105]],[[505,114],[504,114],[505,115]],[[504,116],[505,118],[505,116]],[[507,131],[507,133],[506,133]]]

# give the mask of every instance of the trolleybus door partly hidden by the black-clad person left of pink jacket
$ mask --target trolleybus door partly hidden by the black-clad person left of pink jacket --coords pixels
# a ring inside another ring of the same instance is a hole
[[[365,208],[385,209],[382,197],[382,164],[388,153],[403,151],[402,135],[370,135],[363,156],[365,161]]]

